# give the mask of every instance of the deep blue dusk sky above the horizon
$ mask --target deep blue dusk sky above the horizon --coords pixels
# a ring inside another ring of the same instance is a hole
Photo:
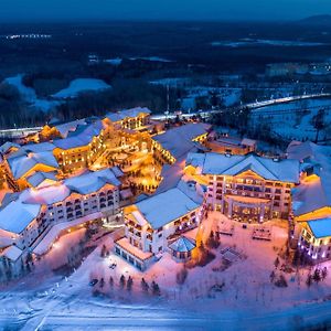
[[[291,20],[331,13],[331,0],[0,0],[1,21]]]

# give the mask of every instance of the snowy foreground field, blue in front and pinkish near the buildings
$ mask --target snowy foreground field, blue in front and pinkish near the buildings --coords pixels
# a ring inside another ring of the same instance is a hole
[[[232,221],[210,213],[200,231],[206,236],[222,222]],[[169,254],[143,274],[113,253],[100,257],[103,244],[110,250],[114,245],[111,236],[106,236],[68,278],[43,277],[44,270],[36,268],[18,284],[2,288],[0,324],[22,330],[293,330],[329,318],[330,276],[310,288],[306,286],[308,270],[284,274],[286,288],[270,284],[274,261],[287,238],[286,224],[266,224],[271,229],[270,242],[252,239],[254,225],[233,225],[234,235],[222,235],[221,247],[213,250],[216,258],[205,267],[189,269],[181,286],[175,275],[182,266]],[[58,244],[67,244],[68,237],[63,241]],[[224,268],[221,257],[226,247],[238,258]],[[113,264],[116,267],[109,268]],[[280,267],[276,269],[279,273]],[[121,275],[132,277],[131,291],[120,287]],[[149,284],[157,281],[161,296],[146,293],[141,277]],[[93,278],[104,278],[105,285],[99,281],[90,287]],[[211,289],[223,281],[222,291]]]

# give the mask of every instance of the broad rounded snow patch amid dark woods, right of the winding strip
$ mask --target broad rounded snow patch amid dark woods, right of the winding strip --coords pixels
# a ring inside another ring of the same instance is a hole
[[[77,78],[71,82],[70,86],[61,89],[52,96],[56,99],[74,98],[82,92],[103,90],[111,88],[106,82],[95,78]]]

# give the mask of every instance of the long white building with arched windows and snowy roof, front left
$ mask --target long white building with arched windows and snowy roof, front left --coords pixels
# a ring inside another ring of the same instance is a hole
[[[118,174],[118,169],[87,171],[56,184],[7,194],[0,210],[0,242],[11,241],[26,254],[38,250],[55,225],[60,231],[117,214]]]

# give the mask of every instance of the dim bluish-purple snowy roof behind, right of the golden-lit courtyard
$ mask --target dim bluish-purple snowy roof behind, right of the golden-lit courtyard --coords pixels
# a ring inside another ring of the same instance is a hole
[[[188,152],[196,149],[194,138],[206,134],[211,126],[206,124],[188,124],[178,128],[170,129],[162,135],[154,136],[153,140],[158,141],[164,149],[175,158],[185,157]]]

